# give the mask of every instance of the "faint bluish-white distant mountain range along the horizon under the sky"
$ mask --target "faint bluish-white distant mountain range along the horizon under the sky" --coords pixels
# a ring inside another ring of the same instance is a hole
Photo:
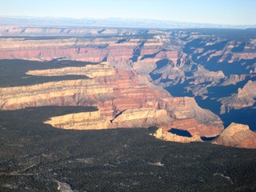
[[[18,26],[105,26],[127,28],[158,28],[158,29],[186,29],[186,28],[221,28],[246,29],[256,28],[255,25],[220,25],[198,22],[175,22],[141,18],[38,18],[38,17],[0,17],[0,25]]]

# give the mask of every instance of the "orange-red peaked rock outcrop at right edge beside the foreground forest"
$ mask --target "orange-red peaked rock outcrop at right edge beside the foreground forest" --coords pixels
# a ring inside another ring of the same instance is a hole
[[[223,146],[256,149],[256,134],[249,129],[249,126],[233,122],[222,131],[214,143]]]

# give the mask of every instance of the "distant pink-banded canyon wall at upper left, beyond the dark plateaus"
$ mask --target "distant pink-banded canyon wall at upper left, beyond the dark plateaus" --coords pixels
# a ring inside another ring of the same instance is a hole
[[[142,38],[122,37],[102,38],[0,38],[0,58],[38,59],[51,61],[56,58],[86,62],[112,62],[113,64],[138,60],[134,57],[134,51],[138,54],[142,49],[151,50],[152,46],[162,49],[163,41]],[[148,42],[148,43],[145,43]],[[142,47],[143,46],[143,47]],[[158,50],[155,50],[158,51]],[[133,58],[134,57],[134,58]]]

